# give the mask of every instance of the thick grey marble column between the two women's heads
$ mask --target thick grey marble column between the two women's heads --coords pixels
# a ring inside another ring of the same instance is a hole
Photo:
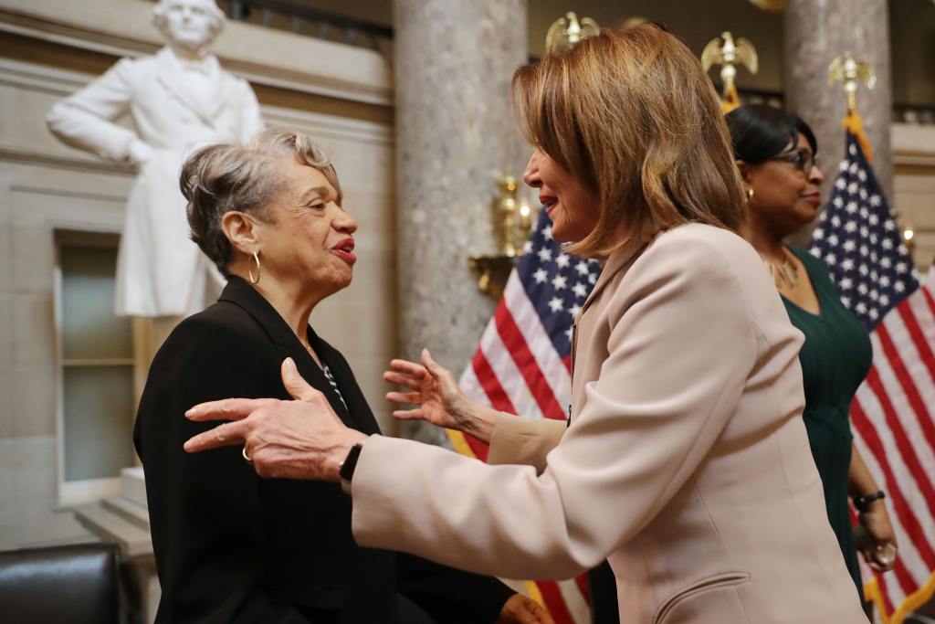
[[[496,178],[530,151],[510,109],[526,1],[395,0],[394,24],[400,355],[460,374],[494,310],[468,256],[493,251]]]

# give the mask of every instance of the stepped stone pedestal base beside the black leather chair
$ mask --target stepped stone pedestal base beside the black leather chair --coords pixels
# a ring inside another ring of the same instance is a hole
[[[122,470],[120,496],[80,505],[74,511],[85,529],[102,541],[120,544],[122,556],[128,561],[139,588],[143,621],[151,624],[162,592],[156,576],[156,561],[152,556],[143,469]]]

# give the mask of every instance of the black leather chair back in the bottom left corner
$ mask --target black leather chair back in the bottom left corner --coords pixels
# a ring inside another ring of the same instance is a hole
[[[0,618],[25,624],[120,624],[117,544],[0,552]]]

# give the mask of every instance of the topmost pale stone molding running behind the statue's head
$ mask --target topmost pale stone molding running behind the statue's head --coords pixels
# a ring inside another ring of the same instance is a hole
[[[163,45],[145,0],[6,0],[0,32],[115,56]],[[213,46],[224,68],[255,84],[391,107],[393,72],[381,54],[252,24],[227,22]]]

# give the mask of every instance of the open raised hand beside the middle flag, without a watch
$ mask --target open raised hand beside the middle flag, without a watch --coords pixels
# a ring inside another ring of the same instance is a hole
[[[422,350],[422,364],[405,359],[391,361],[390,370],[383,373],[383,379],[410,390],[386,394],[391,403],[416,406],[394,411],[394,417],[399,420],[424,420],[490,442],[496,411],[468,399],[452,371],[432,359],[428,349]]]

